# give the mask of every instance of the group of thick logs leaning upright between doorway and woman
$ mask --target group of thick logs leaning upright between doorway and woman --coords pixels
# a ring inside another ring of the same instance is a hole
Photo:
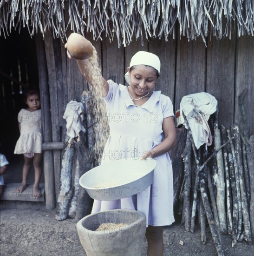
[[[79,178],[93,167],[90,154],[94,143],[90,102],[90,94],[84,91],[81,95],[81,103],[84,106],[82,115],[85,117],[83,121],[85,132],[80,131],[75,138],[66,135],[55,216],[59,221],[65,220],[67,217],[79,221],[91,213],[93,200],[86,190],[79,185]]]

